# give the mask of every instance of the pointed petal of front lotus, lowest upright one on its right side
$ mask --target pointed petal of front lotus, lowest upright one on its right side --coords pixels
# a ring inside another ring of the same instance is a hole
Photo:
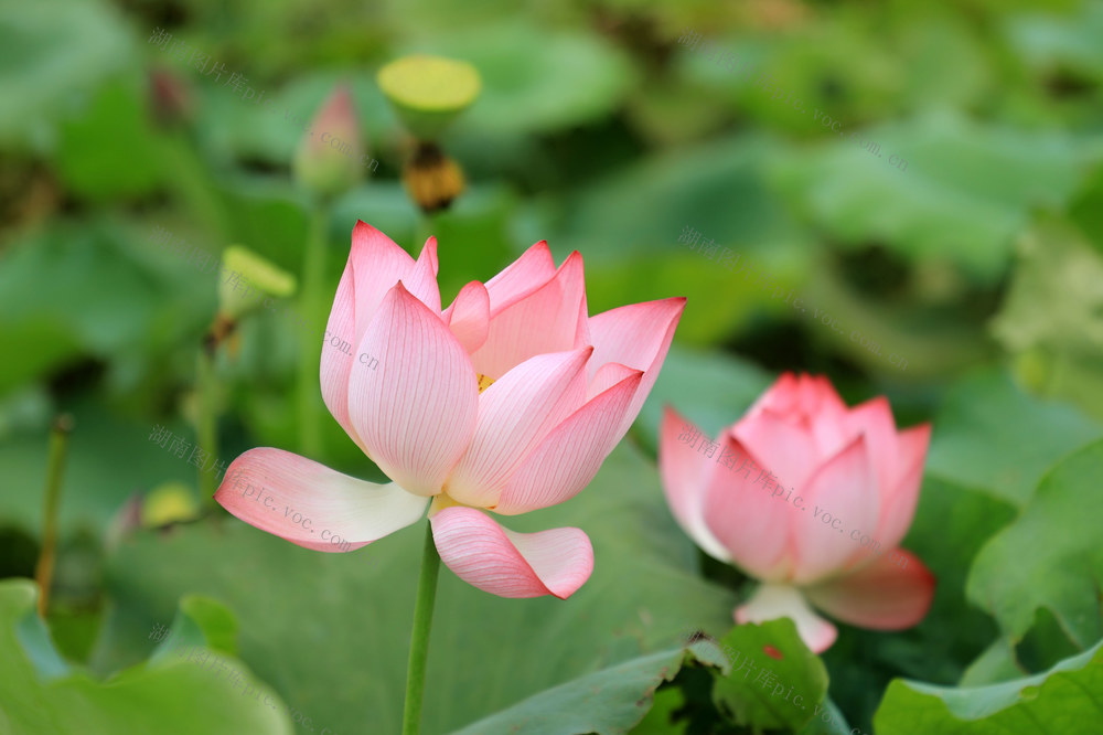
[[[642,377],[632,371],[556,426],[514,472],[493,510],[516,515],[578,494],[615,446],[615,432]]]

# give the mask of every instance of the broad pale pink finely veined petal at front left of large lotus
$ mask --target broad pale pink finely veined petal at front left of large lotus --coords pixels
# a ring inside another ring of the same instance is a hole
[[[479,386],[468,353],[403,284],[379,306],[349,383],[349,413],[372,459],[409,492],[440,492],[474,432]]]

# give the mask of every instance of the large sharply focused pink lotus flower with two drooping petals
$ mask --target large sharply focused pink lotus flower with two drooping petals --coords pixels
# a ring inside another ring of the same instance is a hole
[[[410,525],[431,501],[437,550],[462,579],[502,597],[566,598],[593,568],[586,534],[515,533],[484,511],[547,508],[589,483],[640,412],[684,307],[670,298],[587,317],[582,257],[557,269],[540,242],[441,311],[436,238],[415,262],[357,222],[326,326],[356,349],[323,348],[322,397],[394,482],[258,448],[227,468],[215,499],[330,552]]]

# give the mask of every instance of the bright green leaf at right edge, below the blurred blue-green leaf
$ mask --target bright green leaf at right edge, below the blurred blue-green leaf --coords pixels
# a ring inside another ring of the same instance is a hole
[[[968,596],[1018,641],[1047,608],[1081,649],[1103,638],[1103,441],[1050,470],[1021,516],[988,542],[970,571]]]

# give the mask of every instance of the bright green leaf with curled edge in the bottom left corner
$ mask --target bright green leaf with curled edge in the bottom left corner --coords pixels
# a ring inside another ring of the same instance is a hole
[[[0,731],[34,735],[118,733],[290,733],[287,716],[235,691],[231,677],[271,700],[239,662],[191,657],[138,664],[109,681],[72,670],[56,653],[34,612],[38,588],[25,579],[0,582]],[[148,626],[147,626],[148,627]],[[131,635],[135,635],[131,631]],[[139,630],[137,635],[144,635]],[[229,671],[225,681],[224,670]],[[194,703],[202,702],[203,706]]]

